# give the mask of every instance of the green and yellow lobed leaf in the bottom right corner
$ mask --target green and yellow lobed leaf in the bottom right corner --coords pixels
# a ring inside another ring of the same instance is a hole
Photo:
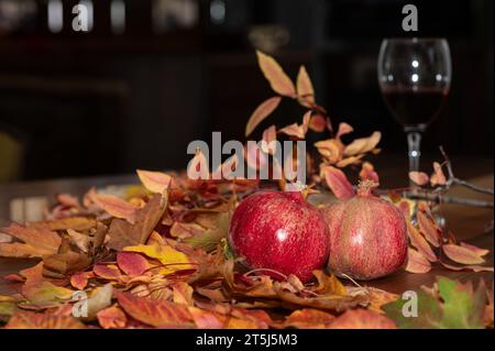
[[[433,329],[481,329],[485,308],[485,289],[482,285],[473,292],[472,285],[462,285],[447,277],[437,277],[438,295],[436,299],[424,290],[417,292],[417,316],[407,317],[404,310],[410,307],[410,299],[397,299],[384,306],[387,316],[395,320],[399,328]]]

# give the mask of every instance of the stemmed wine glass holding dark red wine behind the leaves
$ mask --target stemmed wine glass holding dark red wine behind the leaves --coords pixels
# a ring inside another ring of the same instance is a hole
[[[378,55],[382,96],[407,133],[409,172],[419,171],[421,136],[440,113],[452,76],[444,39],[385,39]],[[416,185],[410,182],[410,187]]]

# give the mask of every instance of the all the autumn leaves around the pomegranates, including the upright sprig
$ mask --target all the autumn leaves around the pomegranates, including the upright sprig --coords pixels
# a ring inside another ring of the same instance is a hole
[[[250,118],[250,134],[282,98],[307,108],[301,124],[270,127],[277,135],[302,140],[308,130],[330,138],[316,143],[319,169],[305,195],[324,185],[337,198],[355,195],[342,171],[359,168],[362,180],[380,182],[367,154],[377,154],[380,132],[344,144],[352,127],[334,131],[315,101],[301,67],[297,84],[270,56],[258,63],[277,94]],[[196,156],[204,157],[201,154]],[[317,162],[315,162],[317,164]],[[310,171],[312,172],[312,171]],[[407,299],[355,282],[344,285],[315,271],[302,284],[296,276],[275,281],[265,270],[249,270],[227,240],[235,207],[266,186],[257,179],[193,180],[186,174],[138,171],[141,185],[125,195],[90,189],[81,199],[56,197],[46,219],[0,229],[0,256],[35,259],[32,267],[3,277],[16,292],[0,296],[3,328],[493,328],[493,286],[477,287],[438,277],[418,294],[418,317],[406,318]],[[440,176],[440,173],[438,173]],[[441,179],[440,179],[441,180]],[[285,182],[270,184],[284,189]],[[432,264],[450,270],[491,271],[488,250],[457,242],[433,219],[427,202],[394,191],[384,195],[403,210],[410,239],[406,271],[426,273]]]

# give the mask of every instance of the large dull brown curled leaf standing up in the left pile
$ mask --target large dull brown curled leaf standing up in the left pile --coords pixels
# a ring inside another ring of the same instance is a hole
[[[121,251],[125,246],[145,243],[152,231],[162,219],[168,205],[168,190],[165,195],[155,195],[142,209],[135,213],[134,224],[123,219],[113,219],[110,229],[108,246]]]

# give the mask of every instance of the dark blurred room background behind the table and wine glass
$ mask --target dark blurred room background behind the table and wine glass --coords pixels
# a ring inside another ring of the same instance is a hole
[[[455,155],[493,156],[491,0],[179,0],[188,2],[187,23],[160,12],[158,0],[125,0],[121,34],[112,32],[110,0],[92,1],[89,33],[70,28],[77,1],[63,1],[61,33],[48,30],[47,0],[25,1],[0,0],[0,133],[20,145],[15,154],[0,150],[0,166],[18,168],[0,182],[183,168],[187,144],[209,141],[211,131],[244,140],[249,116],[272,94],[250,40],[266,25],[289,33],[273,55],[292,77],[308,67],[336,124],[351,123],[358,136],[381,130],[385,152],[405,155],[376,79],[382,39],[405,35],[405,3],[419,10],[415,36],[444,36],[452,52],[451,95],[425,135],[426,152],[442,144]],[[301,112],[284,103],[258,130]]]

